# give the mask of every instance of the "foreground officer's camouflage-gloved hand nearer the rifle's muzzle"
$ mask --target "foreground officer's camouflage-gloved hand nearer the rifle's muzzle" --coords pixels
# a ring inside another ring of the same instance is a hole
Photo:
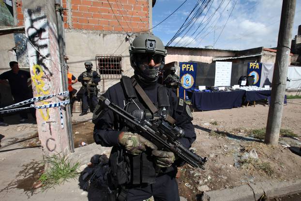
[[[153,150],[151,154],[155,156],[155,163],[160,168],[167,168],[176,160],[176,157],[172,152]]]

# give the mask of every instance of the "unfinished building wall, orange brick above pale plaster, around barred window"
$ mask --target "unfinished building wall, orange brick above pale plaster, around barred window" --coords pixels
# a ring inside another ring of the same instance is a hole
[[[85,70],[86,61],[93,62],[95,70],[99,66],[96,55],[105,55],[108,62],[119,59],[124,75],[133,74],[129,40],[134,33],[149,31],[152,0],[61,0],[61,5],[66,9],[65,41],[71,73],[78,76]],[[24,26],[22,0],[15,0],[13,8],[15,25]],[[118,76],[111,78],[115,79],[102,81],[100,89],[119,81]]]

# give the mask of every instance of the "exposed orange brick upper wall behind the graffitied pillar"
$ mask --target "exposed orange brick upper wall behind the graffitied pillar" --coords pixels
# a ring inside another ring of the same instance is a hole
[[[62,0],[66,29],[90,31],[147,31],[148,0]],[[21,0],[15,0],[18,26],[23,26]]]

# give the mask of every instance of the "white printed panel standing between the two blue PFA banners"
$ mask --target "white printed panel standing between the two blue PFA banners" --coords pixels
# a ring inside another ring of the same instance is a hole
[[[230,86],[232,62],[215,62],[214,86]]]

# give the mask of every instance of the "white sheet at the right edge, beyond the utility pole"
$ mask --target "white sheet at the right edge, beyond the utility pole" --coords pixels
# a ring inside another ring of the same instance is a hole
[[[286,89],[300,90],[301,89],[301,66],[288,66],[287,78],[290,81],[286,82]]]

